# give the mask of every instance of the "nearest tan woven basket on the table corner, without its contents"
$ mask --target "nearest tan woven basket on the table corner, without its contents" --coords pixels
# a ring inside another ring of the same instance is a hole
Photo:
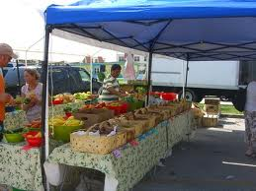
[[[125,142],[122,138],[125,139],[126,136],[120,134],[110,137],[106,135],[89,136],[88,133],[91,129],[92,127],[84,135],[78,135],[77,133],[70,135],[70,145],[73,151],[104,155],[111,153]]]

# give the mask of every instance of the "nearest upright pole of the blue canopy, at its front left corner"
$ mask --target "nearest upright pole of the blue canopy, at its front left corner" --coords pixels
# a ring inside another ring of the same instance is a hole
[[[51,29],[49,26],[45,27],[45,38],[44,38],[44,55],[43,55],[43,103],[42,103],[42,133],[44,135],[45,145],[42,147],[41,163],[42,163],[42,174],[43,174],[43,185],[46,183],[46,176],[43,170],[43,162],[48,157],[48,128],[47,128],[47,108],[48,108],[48,86],[47,86],[47,73],[48,73],[48,46],[49,46],[49,33]]]

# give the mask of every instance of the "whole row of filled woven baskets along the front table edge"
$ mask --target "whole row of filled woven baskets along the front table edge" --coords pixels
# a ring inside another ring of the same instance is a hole
[[[117,103],[115,103],[117,104]],[[107,154],[146,133],[163,120],[191,108],[185,100],[165,101],[125,113],[108,121],[92,125],[70,135],[74,151]]]

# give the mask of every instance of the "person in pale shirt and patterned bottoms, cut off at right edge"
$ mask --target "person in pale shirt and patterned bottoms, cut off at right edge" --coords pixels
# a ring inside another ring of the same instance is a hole
[[[254,148],[256,147],[256,81],[249,83],[247,87],[245,103],[245,141],[247,144],[247,157],[256,157]]]

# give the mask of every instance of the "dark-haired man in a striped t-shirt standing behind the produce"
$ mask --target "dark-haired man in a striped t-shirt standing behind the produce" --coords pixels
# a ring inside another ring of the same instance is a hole
[[[119,64],[114,64],[111,67],[111,75],[104,79],[102,92],[100,93],[100,100],[101,101],[115,101],[119,100],[119,97],[127,96],[123,94],[120,90],[120,85],[117,80],[121,73],[121,66]]]

